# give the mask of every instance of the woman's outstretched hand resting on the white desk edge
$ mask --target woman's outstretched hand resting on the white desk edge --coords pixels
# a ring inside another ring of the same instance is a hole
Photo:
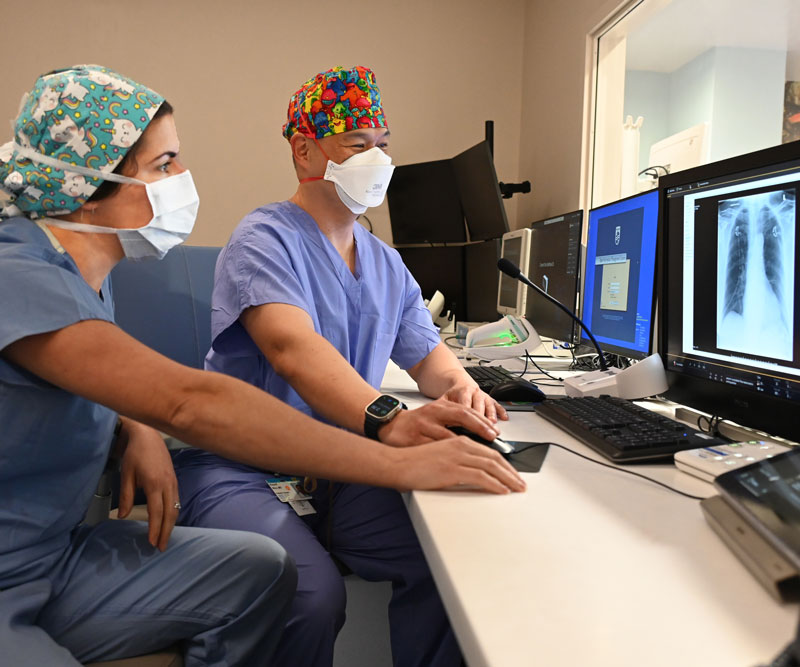
[[[398,490],[475,488],[490,493],[524,491],[519,473],[493,449],[464,436],[392,452]]]

